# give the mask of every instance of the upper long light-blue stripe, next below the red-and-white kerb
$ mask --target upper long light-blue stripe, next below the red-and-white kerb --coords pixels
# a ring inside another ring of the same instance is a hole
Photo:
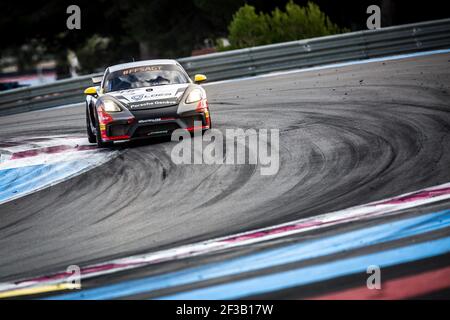
[[[143,292],[191,284],[243,272],[256,271],[291,262],[317,258],[337,252],[348,251],[398,240],[450,226],[450,210],[385,223],[341,235],[313,241],[296,243],[281,248],[249,254],[228,261],[211,263],[159,276],[124,281],[74,293],[62,294],[48,299],[114,299]]]

